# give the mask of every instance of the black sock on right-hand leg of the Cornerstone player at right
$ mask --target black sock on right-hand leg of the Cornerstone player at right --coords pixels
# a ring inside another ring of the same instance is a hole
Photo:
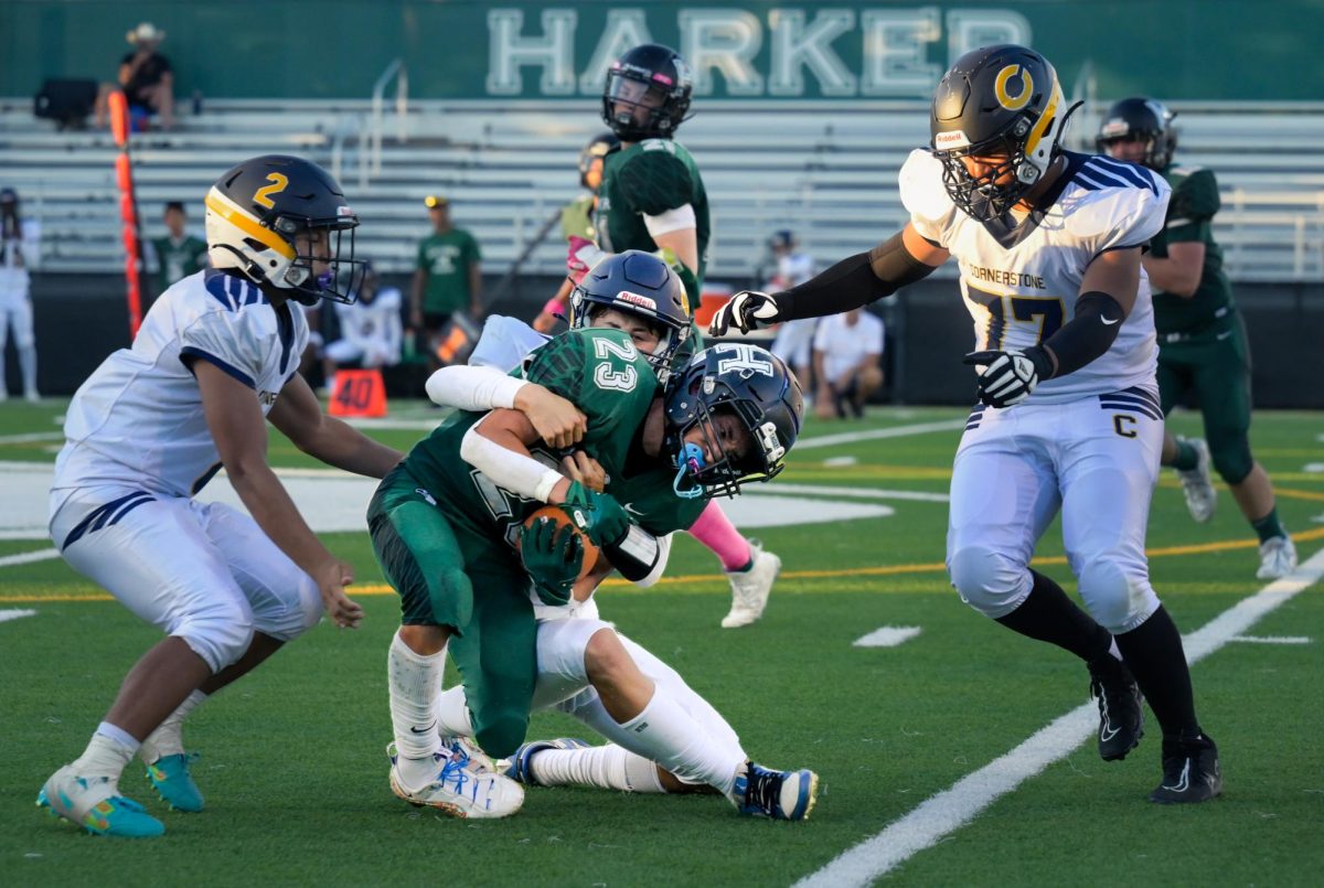
[[[1190,668],[1181,647],[1181,633],[1168,611],[1160,605],[1149,619],[1116,638],[1121,658],[1162,725],[1162,736],[1168,740],[1200,736]]]

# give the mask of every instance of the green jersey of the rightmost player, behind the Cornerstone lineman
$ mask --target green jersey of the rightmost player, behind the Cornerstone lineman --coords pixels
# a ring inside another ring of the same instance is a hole
[[[1162,176],[1172,185],[1172,200],[1164,229],[1151,242],[1153,255],[1165,259],[1169,244],[1198,241],[1205,245],[1205,267],[1196,295],[1189,299],[1155,292],[1155,327],[1160,336],[1201,330],[1234,308],[1233,289],[1223,273],[1223,251],[1211,230],[1219,208],[1213,171],[1168,167]]]

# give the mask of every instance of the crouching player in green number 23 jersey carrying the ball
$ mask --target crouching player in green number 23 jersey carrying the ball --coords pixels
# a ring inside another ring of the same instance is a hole
[[[512,389],[526,380],[536,382],[584,413],[579,449],[609,479],[605,494],[553,468],[557,454],[539,439],[530,418],[506,408],[453,414],[383,482],[368,517],[379,562],[401,593],[404,609],[389,658],[391,779],[397,795],[465,817],[502,817],[522,802],[518,785],[475,769],[463,746],[442,744],[437,695],[449,642],[463,678],[471,733],[483,750],[510,754],[523,740],[538,672],[530,580],[540,606],[561,607],[583,557],[575,552],[573,535],[539,533],[536,523],[535,531],[523,531],[528,513],[542,503],[567,504],[613,566],[628,578],[645,580],[659,570],[665,549],[630,520],[617,494],[634,498],[639,491],[632,486],[643,484],[699,500],[780,470],[798,433],[798,386],[764,352],[748,345],[719,348],[731,353],[711,356],[678,380],[666,398],[651,365],[617,330],[565,333],[532,355],[523,378],[510,380]],[[704,371],[718,377],[714,384],[707,384]],[[733,382],[724,384],[724,377]],[[515,397],[496,393],[493,402],[512,405]],[[613,662],[620,648],[613,639],[601,641],[602,662]],[[643,703],[651,707],[650,700],[666,717],[654,713],[653,721],[634,725],[633,734],[638,744],[651,742],[669,770],[687,773],[687,764],[700,768],[695,756],[700,762],[716,756],[704,758],[694,744],[677,748],[677,734],[666,725],[687,716],[667,708],[665,695],[645,696]],[[624,709],[614,715],[622,723],[636,721]],[[678,731],[688,734],[685,724]],[[711,762],[704,773],[711,773]],[[757,806],[767,795],[759,786],[781,786],[785,777],[748,765],[741,774],[732,769],[723,789],[737,805]],[[802,815],[812,803],[813,778],[805,772],[794,781],[804,793],[792,793],[800,801],[788,810]]]

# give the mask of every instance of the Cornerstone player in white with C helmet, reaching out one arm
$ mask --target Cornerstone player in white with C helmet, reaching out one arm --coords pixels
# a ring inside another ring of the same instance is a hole
[[[798,287],[736,294],[712,332],[847,311],[955,255],[978,349],[965,361],[984,369],[952,471],[952,585],[1088,664],[1104,760],[1140,741],[1143,692],[1164,736],[1151,799],[1201,802],[1222,789],[1218,752],[1144,552],[1164,425],[1140,255],[1169,188],[1141,167],[1064,151],[1070,112],[1038,53],[967,53],[933,95],[932,150],[902,168],[906,228]],[[1058,512],[1088,614],[1030,569]]]

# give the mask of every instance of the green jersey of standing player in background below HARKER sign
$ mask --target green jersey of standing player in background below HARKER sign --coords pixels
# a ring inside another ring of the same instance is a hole
[[[671,139],[647,139],[613,151],[602,160],[597,189],[597,245],[608,253],[658,249],[645,216],[661,216],[688,204],[694,208],[699,241],[699,267],[681,275],[690,303],[699,304],[703,271],[708,263],[708,195],[694,157]]]

